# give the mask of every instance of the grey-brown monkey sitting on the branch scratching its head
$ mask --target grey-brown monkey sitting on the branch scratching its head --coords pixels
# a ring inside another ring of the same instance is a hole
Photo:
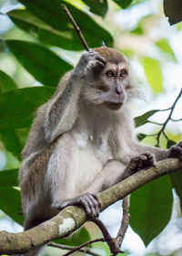
[[[22,152],[25,229],[70,205],[94,219],[98,192],[156,161],[182,157],[182,142],[168,150],[138,142],[130,105],[139,93],[129,60],[114,48],[83,53],[65,74],[37,110]]]

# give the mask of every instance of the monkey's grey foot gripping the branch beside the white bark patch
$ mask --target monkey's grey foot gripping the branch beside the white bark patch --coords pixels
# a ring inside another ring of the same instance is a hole
[[[57,209],[63,209],[68,206],[81,206],[85,208],[86,215],[90,219],[96,219],[100,213],[101,204],[98,197],[90,193],[86,193],[81,196],[66,200],[63,203],[56,204]]]

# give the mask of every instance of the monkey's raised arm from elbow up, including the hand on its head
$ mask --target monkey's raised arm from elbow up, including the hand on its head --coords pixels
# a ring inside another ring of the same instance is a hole
[[[53,142],[57,136],[70,131],[76,122],[80,92],[86,85],[88,72],[95,65],[104,66],[105,59],[96,51],[84,53],[74,69],[61,83],[56,94],[47,104],[45,112],[45,140]],[[62,87],[65,87],[62,90]]]

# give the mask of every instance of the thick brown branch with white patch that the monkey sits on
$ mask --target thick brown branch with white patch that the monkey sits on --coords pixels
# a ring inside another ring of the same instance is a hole
[[[101,210],[126,197],[147,182],[182,168],[182,161],[175,158],[157,162],[156,167],[141,170],[125,180],[98,194]],[[0,254],[23,253],[51,240],[64,238],[86,222],[83,208],[68,207],[56,217],[49,219],[34,229],[20,233],[0,232]]]

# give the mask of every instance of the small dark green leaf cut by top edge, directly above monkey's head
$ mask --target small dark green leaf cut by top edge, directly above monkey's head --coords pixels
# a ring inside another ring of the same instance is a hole
[[[93,0],[83,0],[83,2],[90,7],[89,11],[98,15],[105,17],[107,11],[107,1],[93,1]]]

